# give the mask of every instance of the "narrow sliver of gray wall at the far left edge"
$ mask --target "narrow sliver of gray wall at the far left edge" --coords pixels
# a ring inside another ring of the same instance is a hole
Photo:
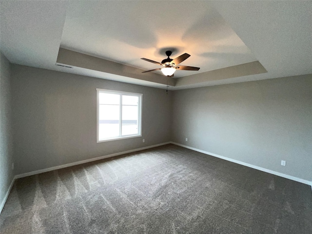
[[[0,206],[4,201],[14,173],[11,131],[10,62],[0,53]],[[1,209],[1,207],[0,207]]]

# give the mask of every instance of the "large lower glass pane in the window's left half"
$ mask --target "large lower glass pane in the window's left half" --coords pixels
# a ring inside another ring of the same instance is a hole
[[[119,136],[119,105],[99,105],[98,138]]]

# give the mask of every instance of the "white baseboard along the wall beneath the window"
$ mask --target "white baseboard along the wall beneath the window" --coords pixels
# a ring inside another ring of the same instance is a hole
[[[63,165],[59,165],[59,166],[55,166],[55,167],[45,168],[45,169],[41,169],[38,171],[27,172],[27,173],[23,173],[20,175],[16,175],[15,178],[18,179],[18,178],[22,178],[22,177],[26,177],[26,176],[33,176],[33,175],[37,175],[37,174],[44,173],[44,172],[50,172],[50,171],[62,169],[65,167],[71,167],[71,166],[75,166],[75,165],[79,165],[79,164],[83,164],[83,163],[87,163],[87,162],[93,162],[93,161],[97,161],[97,160],[104,159],[104,158],[124,155],[124,154],[132,153],[132,152],[136,152],[136,151],[140,151],[140,150],[146,150],[146,149],[154,148],[154,147],[161,146],[161,145],[167,145],[167,144],[170,144],[170,142],[160,143],[160,144],[156,144],[156,145],[150,145],[150,146],[146,146],[146,147],[142,147],[142,148],[138,148],[138,149],[133,149],[133,150],[127,150],[124,152],[119,152],[119,153],[115,153],[115,154],[111,154],[111,155],[94,157],[94,158],[90,158],[90,159],[86,159],[86,160],[82,160],[82,161],[78,161],[78,162],[72,162],[72,163],[67,163],[67,164],[63,164]]]

